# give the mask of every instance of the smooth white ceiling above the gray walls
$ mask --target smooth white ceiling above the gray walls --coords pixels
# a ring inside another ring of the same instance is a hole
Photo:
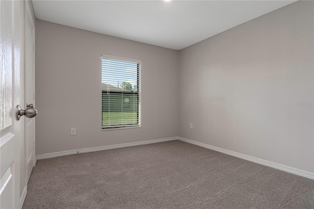
[[[181,50],[296,0],[33,0],[36,18]]]

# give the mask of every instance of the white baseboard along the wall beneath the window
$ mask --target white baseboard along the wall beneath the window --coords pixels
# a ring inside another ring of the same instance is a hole
[[[47,159],[47,158],[52,158],[52,157],[68,156],[68,155],[74,155],[74,154],[80,154],[80,153],[90,153],[90,152],[96,152],[96,151],[111,150],[111,149],[117,149],[117,148],[123,148],[123,147],[132,147],[132,146],[138,146],[138,145],[144,145],[144,144],[153,144],[153,143],[172,141],[172,140],[178,140],[178,137],[170,137],[170,138],[163,138],[163,139],[154,139],[154,140],[147,140],[147,141],[138,141],[138,142],[124,143],[124,144],[115,144],[115,145],[107,145],[107,146],[101,146],[101,147],[83,148],[83,149],[78,149],[78,150],[68,150],[68,151],[62,151],[62,152],[56,152],[56,153],[48,153],[44,155],[38,155],[37,159]]]

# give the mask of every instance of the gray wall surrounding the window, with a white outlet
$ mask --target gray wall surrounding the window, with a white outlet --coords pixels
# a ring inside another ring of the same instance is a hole
[[[102,54],[142,60],[142,128],[102,131]],[[37,20],[36,155],[178,136],[178,77],[178,51]]]

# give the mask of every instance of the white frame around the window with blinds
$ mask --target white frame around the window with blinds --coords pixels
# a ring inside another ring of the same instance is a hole
[[[142,127],[142,105],[141,105],[141,66],[142,61],[138,59],[131,59],[126,57],[120,57],[120,56],[113,56],[108,54],[102,54],[102,60],[104,59],[111,59],[111,60],[117,60],[117,61],[124,61],[124,62],[133,62],[139,64],[138,68],[138,124],[136,125],[117,125],[117,126],[103,126],[103,119],[102,119],[102,131],[109,131],[109,130],[119,130],[119,129],[134,129],[134,128],[141,128]],[[103,73],[102,73],[103,75]],[[102,90],[103,94],[103,90]],[[102,108],[103,108],[103,102],[102,102]],[[103,110],[102,110],[103,111]],[[103,115],[102,115],[103,117]]]

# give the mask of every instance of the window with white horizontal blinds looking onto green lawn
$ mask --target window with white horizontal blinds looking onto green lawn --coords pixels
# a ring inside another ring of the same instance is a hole
[[[103,54],[103,130],[141,127],[141,61]]]

